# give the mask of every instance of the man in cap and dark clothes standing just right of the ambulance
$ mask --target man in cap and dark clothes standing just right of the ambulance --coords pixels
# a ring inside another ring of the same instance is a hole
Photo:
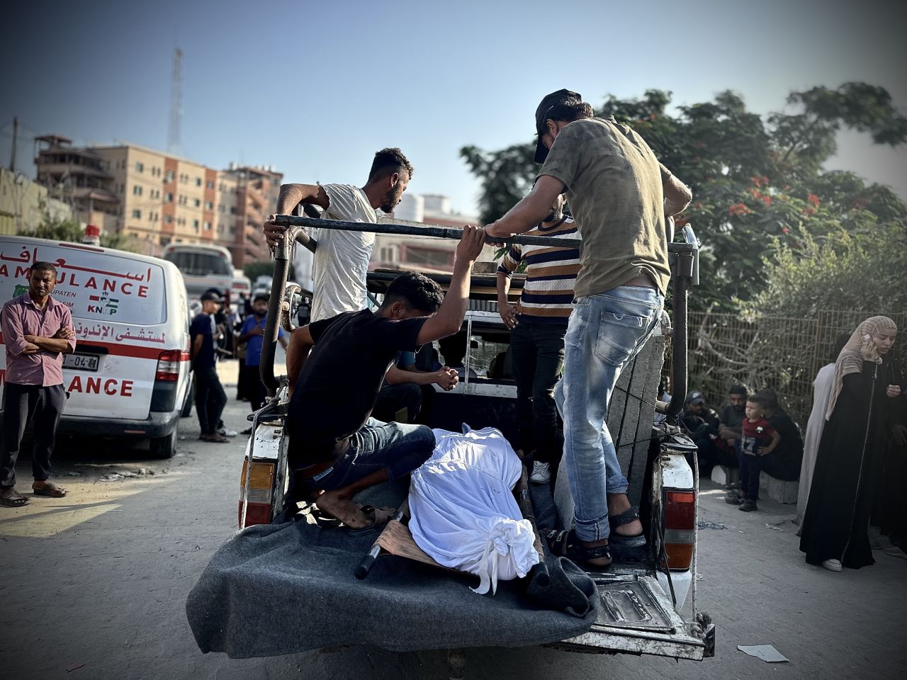
[[[201,296],[201,311],[192,319],[189,332],[192,338],[192,371],[195,374],[195,410],[199,414],[202,442],[229,442],[218,432],[220,414],[227,404],[227,394],[220,384],[214,358],[214,336],[217,325],[214,315],[223,299],[214,291]]]

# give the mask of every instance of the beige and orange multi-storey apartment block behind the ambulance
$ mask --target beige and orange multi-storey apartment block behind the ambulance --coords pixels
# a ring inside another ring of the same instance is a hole
[[[154,255],[170,243],[211,243],[229,248],[234,267],[268,258],[261,224],[277,203],[279,172],[213,170],[138,144],[40,139],[38,181],[81,221],[135,237]]]

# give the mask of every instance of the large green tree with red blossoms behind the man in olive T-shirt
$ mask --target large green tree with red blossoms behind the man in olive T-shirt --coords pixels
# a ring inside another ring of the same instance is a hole
[[[774,239],[793,252],[803,234],[823,243],[842,230],[857,242],[880,224],[907,224],[907,209],[890,189],[867,186],[853,173],[826,172],[835,134],[844,128],[867,132],[874,143],[907,140],[907,119],[882,88],[845,83],[793,92],[790,112],[766,120],[746,110],[734,92],[712,102],[667,112],[670,93],[649,90],[641,99],[610,96],[600,115],[613,115],[642,135],[658,158],[693,190],[693,203],[678,219],[702,241],[701,287],[694,307],[736,310],[768,283],[766,254]],[[483,219],[510,209],[531,186],[538,166],[533,144],[502,151],[465,147],[461,155],[482,180]]]

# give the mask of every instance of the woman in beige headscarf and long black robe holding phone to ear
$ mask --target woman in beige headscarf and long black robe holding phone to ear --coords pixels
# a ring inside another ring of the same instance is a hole
[[[832,571],[873,564],[869,517],[885,451],[891,399],[901,393],[883,359],[897,326],[887,316],[860,324],[834,363],[827,423],[815,461],[800,549]]]

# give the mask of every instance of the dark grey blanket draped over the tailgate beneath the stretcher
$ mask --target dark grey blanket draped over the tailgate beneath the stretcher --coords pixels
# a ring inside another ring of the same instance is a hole
[[[393,556],[356,580],[353,569],[378,531],[300,520],[229,539],[186,602],[201,651],[249,658],[360,644],[398,652],[530,646],[578,636],[595,622],[596,597],[584,617],[571,616],[540,607],[518,581],[481,596],[468,588],[475,577]]]

